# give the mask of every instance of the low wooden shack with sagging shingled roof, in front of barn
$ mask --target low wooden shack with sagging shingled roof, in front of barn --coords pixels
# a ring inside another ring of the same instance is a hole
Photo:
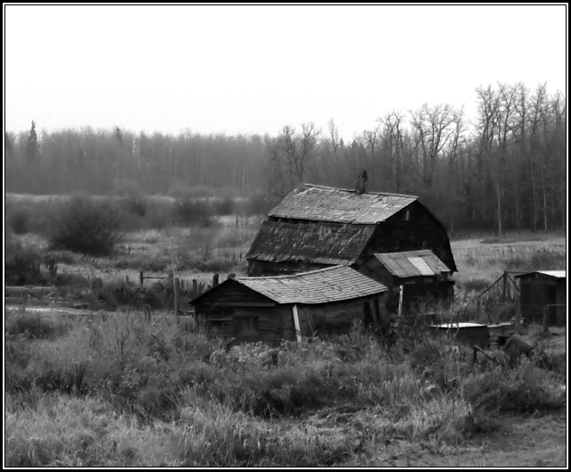
[[[352,322],[385,325],[387,289],[346,266],[277,277],[236,277],[190,303],[210,335],[237,341],[343,334]]]

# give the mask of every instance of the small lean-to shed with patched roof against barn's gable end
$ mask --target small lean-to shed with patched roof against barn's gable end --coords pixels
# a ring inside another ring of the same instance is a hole
[[[405,253],[376,253],[359,267],[389,289],[387,311],[408,311],[420,302],[451,300],[451,270],[429,249]]]

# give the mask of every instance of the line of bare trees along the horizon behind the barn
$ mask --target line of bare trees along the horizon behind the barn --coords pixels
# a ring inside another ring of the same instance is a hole
[[[116,191],[177,187],[263,191],[277,201],[300,182],[418,195],[452,231],[565,228],[567,99],[546,85],[476,89],[477,116],[423,104],[395,111],[344,142],[331,120],[287,125],[277,136],[135,134],[120,128],[4,134],[6,192]]]

